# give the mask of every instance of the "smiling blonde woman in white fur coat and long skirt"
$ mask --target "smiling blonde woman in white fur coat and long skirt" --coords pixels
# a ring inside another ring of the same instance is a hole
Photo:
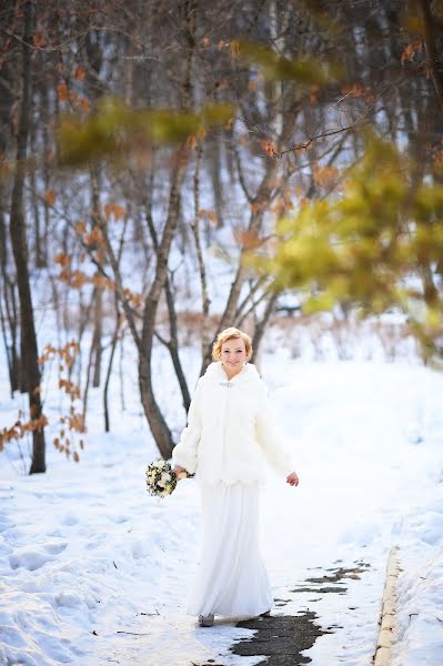
[[[201,486],[203,548],[187,613],[199,615],[205,627],[214,615],[270,614],[273,598],[259,543],[264,458],[290,485],[299,484],[251,356],[246,333],[230,327],[219,334],[172,453],[175,474],[195,473]]]

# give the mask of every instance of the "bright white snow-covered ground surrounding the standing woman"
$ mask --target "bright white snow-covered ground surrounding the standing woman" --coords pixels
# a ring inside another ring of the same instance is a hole
[[[313,666],[369,666],[386,557],[397,544],[394,666],[441,666],[443,375],[413,362],[318,363],[292,360],[281,346],[271,352],[260,370],[301,478],[292,488],[270,475],[262,496],[263,554],[275,597],[289,599],[274,613],[310,608],[333,627],[305,653]],[[199,363],[189,350],[184,356],[192,386]],[[91,393],[79,464],[50,444],[48,473],[29,477],[14,444],[1,454],[0,664],[256,664],[229,650],[250,630],[226,620],[203,629],[184,615],[199,557],[199,490],[187,480],[165,500],[147,494],[144,468],[158,455],[130,356],[125,367],[127,410],[114,386],[109,435],[101,393]],[[0,379],[2,427],[23,397],[10,401],[4,363]],[[163,380],[160,400],[180,430],[172,380]],[[358,563],[364,573],[343,581],[346,594],[293,592]]]

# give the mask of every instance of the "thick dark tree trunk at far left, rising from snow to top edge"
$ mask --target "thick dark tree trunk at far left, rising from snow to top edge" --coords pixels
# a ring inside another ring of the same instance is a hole
[[[26,351],[23,362],[26,364],[26,383],[29,394],[30,418],[38,420],[41,416],[40,400],[40,369],[38,363],[37,335],[33,321],[32,297],[29,283],[27,230],[24,223],[24,160],[27,157],[27,143],[29,134],[31,97],[31,41],[33,7],[32,2],[24,4],[24,30],[22,41],[22,99],[20,105],[19,124],[17,131],[17,168],[12,188],[10,234],[13,258],[17,270],[17,283],[20,297],[21,315],[21,340],[22,350]],[[32,463],[30,474],[46,472],[46,445],[44,430],[32,432]]]

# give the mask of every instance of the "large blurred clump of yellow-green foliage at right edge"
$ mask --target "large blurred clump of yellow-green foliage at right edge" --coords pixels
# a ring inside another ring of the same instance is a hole
[[[371,139],[340,193],[303,204],[276,226],[271,255],[250,256],[276,289],[305,294],[308,312],[338,302],[362,314],[400,307],[429,356],[443,334],[435,281],[443,260],[443,186],[414,182],[393,144]]]

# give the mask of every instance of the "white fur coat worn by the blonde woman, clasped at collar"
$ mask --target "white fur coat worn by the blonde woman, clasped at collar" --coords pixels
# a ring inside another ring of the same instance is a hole
[[[204,483],[235,483],[263,481],[265,461],[282,476],[293,472],[265,384],[251,363],[231,381],[220,361],[211,363],[197,384],[173,464]]]

